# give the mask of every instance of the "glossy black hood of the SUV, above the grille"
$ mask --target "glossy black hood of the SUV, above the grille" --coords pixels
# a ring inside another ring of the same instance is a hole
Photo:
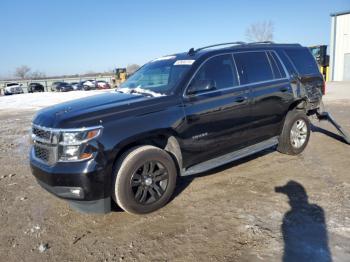
[[[33,123],[52,128],[99,125],[104,116],[130,110],[131,104],[150,99],[142,95],[108,92],[44,108],[36,114]]]

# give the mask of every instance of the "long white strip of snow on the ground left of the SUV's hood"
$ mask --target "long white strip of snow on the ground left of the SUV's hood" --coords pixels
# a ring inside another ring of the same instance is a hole
[[[43,93],[26,93],[11,96],[0,96],[0,112],[2,110],[39,110],[44,107],[63,103],[66,101],[93,96],[109,90],[91,90],[91,91],[72,91],[67,93],[61,92],[43,92]]]

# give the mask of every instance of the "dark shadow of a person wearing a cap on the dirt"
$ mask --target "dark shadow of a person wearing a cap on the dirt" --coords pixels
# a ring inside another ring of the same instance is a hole
[[[281,226],[283,262],[332,261],[323,209],[308,202],[307,193],[298,182],[275,187],[275,192],[286,194],[291,206]]]

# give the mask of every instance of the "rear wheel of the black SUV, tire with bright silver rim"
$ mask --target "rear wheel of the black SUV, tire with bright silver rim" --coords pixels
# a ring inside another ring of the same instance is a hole
[[[289,111],[279,137],[277,150],[283,154],[298,155],[310,139],[310,120],[302,111]]]

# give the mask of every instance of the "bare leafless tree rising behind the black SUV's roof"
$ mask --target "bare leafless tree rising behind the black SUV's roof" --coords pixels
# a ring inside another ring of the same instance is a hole
[[[264,42],[273,40],[273,31],[273,22],[263,21],[251,24],[245,34],[249,42]]]

